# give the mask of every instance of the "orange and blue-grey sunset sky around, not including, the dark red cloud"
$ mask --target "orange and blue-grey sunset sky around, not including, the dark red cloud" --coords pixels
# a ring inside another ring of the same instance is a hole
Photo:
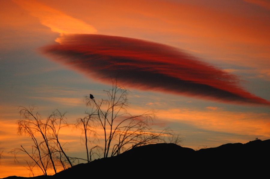
[[[63,34],[102,34],[170,45],[236,75],[241,89],[270,101],[267,0],[10,0],[1,2],[0,16],[0,148],[4,151],[0,178],[29,176],[24,168],[27,157],[18,156],[15,164],[8,153],[31,144],[16,134],[16,106],[35,104],[44,118],[55,109],[68,111],[68,122],[73,123],[87,110],[83,96],[91,92],[97,100],[104,98],[102,90],[111,86],[40,53],[41,47],[61,43]],[[132,85],[130,90],[128,111],[134,115],[158,111],[157,130],[170,126],[183,137],[184,147],[270,137],[269,107],[142,91]],[[69,142],[70,155],[85,157],[80,131],[66,129],[61,137]]]

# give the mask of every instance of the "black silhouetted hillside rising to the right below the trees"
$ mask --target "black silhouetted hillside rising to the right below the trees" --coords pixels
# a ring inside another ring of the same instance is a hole
[[[116,157],[79,164],[53,176],[34,178],[268,178],[269,149],[270,139],[225,144],[199,151],[175,144],[151,144],[133,148]]]

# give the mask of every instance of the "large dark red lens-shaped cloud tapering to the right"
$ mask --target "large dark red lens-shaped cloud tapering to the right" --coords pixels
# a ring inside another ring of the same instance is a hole
[[[215,101],[265,104],[245,91],[238,78],[177,48],[144,40],[94,34],[61,37],[61,44],[42,51],[57,61],[104,82],[196,96]]]

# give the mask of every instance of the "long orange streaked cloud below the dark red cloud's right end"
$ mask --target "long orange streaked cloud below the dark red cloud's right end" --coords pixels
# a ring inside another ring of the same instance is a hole
[[[179,108],[160,110],[158,118],[190,124],[198,129],[269,139],[269,114],[226,110],[194,110]]]

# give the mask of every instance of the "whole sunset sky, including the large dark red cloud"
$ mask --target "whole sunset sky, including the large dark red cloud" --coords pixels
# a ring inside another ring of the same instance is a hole
[[[74,123],[112,77],[129,113],[157,111],[153,128],[183,147],[270,138],[268,0],[3,0],[0,14],[0,178],[29,176],[27,157],[8,153],[31,145],[17,135],[19,106]],[[84,157],[80,131],[61,137]]]

